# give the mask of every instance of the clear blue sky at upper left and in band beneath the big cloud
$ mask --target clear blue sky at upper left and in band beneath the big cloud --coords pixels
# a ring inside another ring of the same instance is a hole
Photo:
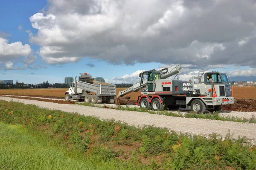
[[[37,30],[32,28],[29,21],[29,17],[33,14],[41,11],[44,6],[47,5],[46,0],[9,0],[1,2],[0,20],[2,23],[0,31],[9,34],[7,37],[9,43],[20,41],[23,44],[31,45],[34,51],[39,49],[38,45],[29,43],[29,37],[26,30],[36,32]],[[22,26],[19,30],[18,27]],[[47,68],[38,68],[36,70],[24,69],[24,70],[0,70],[0,79],[13,79],[14,82],[24,83],[41,83],[44,81],[62,82],[64,83],[64,77],[79,76],[79,73],[87,72],[92,74],[93,77],[104,77],[105,79],[111,79],[113,77],[121,77],[125,74],[131,74],[134,71],[140,69],[152,69],[159,65],[159,63],[147,63],[147,64],[135,64],[135,65],[111,65],[108,62],[100,61],[98,59],[83,58],[76,63],[66,63],[64,65],[47,65],[37,55],[35,64],[45,65]],[[86,64],[91,63],[95,67],[89,67]],[[17,63],[16,67],[23,67],[22,63]],[[103,70],[103,71],[102,71]],[[114,73],[114,74],[113,74]]]

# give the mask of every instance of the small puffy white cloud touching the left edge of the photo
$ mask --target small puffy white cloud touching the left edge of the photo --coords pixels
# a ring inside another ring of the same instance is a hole
[[[22,45],[21,42],[8,43],[8,40],[0,38],[0,60],[10,61],[21,56],[27,56],[31,52],[30,45]]]

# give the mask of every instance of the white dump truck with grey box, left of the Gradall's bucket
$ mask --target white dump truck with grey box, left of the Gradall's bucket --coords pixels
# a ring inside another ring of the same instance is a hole
[[[114,103],[116,85],[96,81],[90,74],[80,73],[78,81],[71,83],[71,87],[65,93],[65,100],[79,100],[96,103]]]

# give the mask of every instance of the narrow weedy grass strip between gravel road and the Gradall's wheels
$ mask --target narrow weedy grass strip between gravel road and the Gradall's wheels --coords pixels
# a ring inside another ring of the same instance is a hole
[[[78,105],[90,106],[90,107],[98,107],[103,108],[103,106],[93,105],[91,103],[86,102],[76,102]],[[255,115],[252,115],[251,118],[239,118],[234,116],[220,116],[219,112],[213,112],[208,114],[203,113],[195,113],[195,112],[188,112],[188,113],[173,113],[170,111],[162,110],[162,111],[152,111],[145,108],[130,108],[129,106],[117,106],[117,107],[109,107],[110,109],[122,110],[122,111],[137,111],[137,112],[148,112],[150,114],[159,114],[159,115],[166,115],[166,116],[175,116],[175,117],[185,117],[185,118],[196,118],[196,119],[210,119],[210,120],[222,120],[222,121],[231,121],[231,122],[249,122],[249,123],[256,123]]]

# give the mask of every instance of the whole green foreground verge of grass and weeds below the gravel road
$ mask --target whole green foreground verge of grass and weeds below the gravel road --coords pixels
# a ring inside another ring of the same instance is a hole
[[[30,164],[47,169],[55,166],[52,164],[57,157],[60,159],[56,166],[76,164],[72,169],[79,169],[83,163],[88,169],[255,170],[256,167],[256,147],[248,145],[245,137],[233,139],[230,134],[212,134],[209,138],[177,134],[166,128],[137,128],[114,120],[102,121],[93,116],[1,100],[0,121],[9,124],[0,125],[0,135],[4,136],[0,139],[3,145],[0,161],[5,161],[0,165],[8,166],[3,169]],[[58,166],[56,169],[66,168]]]

